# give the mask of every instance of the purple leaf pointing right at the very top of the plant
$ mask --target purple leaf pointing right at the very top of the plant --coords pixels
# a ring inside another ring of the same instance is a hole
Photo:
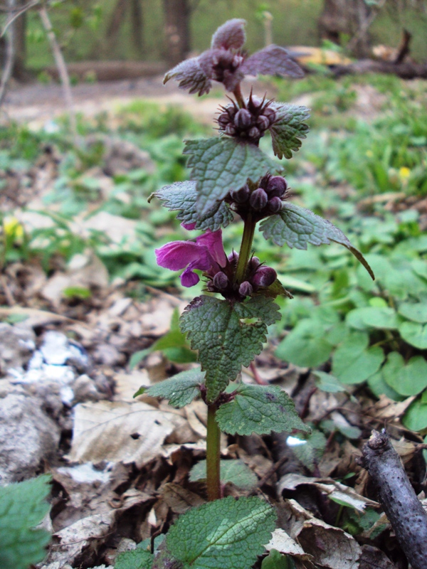
[[[268,46],[255,52],[243,63],[241,70],[247,75],[289,75],[304,77],[300,65],[290,58],[288,51],[280,46]]]

